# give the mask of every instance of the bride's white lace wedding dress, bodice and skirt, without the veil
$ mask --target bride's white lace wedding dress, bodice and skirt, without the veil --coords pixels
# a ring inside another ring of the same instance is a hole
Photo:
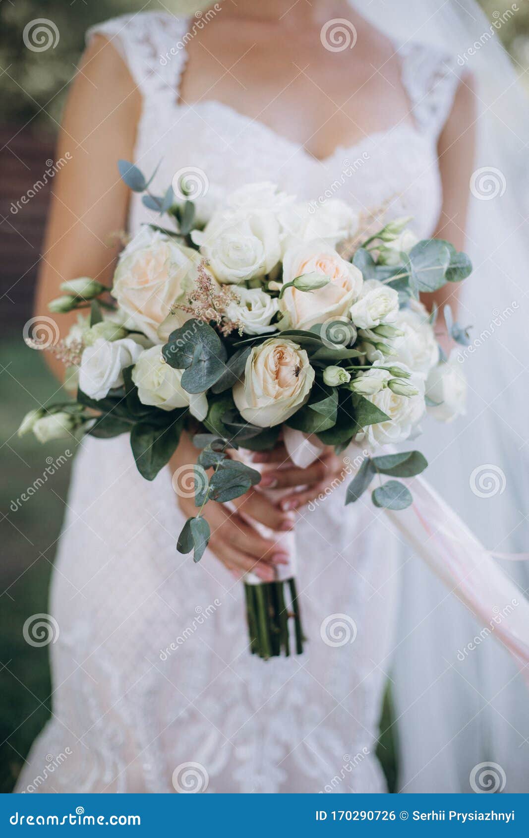
[[[391,199],[391,215],[413,215],[419,235],[433,232],[436,143],[458,80],[432,49],[401,50],[405,120],[319,161],[219,101],[179,101],[184,19],[140,13],[96,32],[143,94],[136,160],[146,173],[162,160],[155,192],[188,167],[207,174],[207,199],[258,180],[301,198],[338,183],[336,197],[366,208]],[[152,217],[135,197],[131,231]],[[194,566],[176,550],[183,520],[169,472],[148,483],[127,437],[86,438],[51,592],[60,627],[49,647],[53,716],[18,790],[43,776],[41,792],[173,792],[187,780],[207,792],[385,790],[375,748],[397,543],[367,502],[345,510],[344,494],[342,485],[305,510],[296,529],[306,653],[264,663],[246,649],[242,585],[211,554]],[[355,621],[352,644],[320,636],[333,614]],[[49,755],[60,758],[53,772]]]

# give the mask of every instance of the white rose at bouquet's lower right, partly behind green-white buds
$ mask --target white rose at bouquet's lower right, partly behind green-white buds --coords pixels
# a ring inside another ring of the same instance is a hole
[[[412,372],[412,370],[407,370],[405,365],[393,361],[392,366],[398,366],[402,370]],[[381,370],[376,365],[366,372],[365,376],[385,383],[393,378],[391,372]],[[363,428],[360,433],[356,434],[357,442],[366,442],[371,448],[376,448],[381,445],[402,442],[410,436],[424,413],[424,380],[420,375],[412,372],[411,377],[407,378],[406,382],[417,390],[416,395],[399,396],[386,386],[373,396],[364,396],[372,404],[379,407],[381,411],[384,411],[389,419],[386,422],[378,422],[375,425],[368,425]]]

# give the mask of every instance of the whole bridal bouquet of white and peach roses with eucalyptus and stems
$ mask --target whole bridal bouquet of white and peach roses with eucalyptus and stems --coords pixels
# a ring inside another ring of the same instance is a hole
[[[137,167],[119,167],[158,219],[127,243],[112,288],[87,277],[63,283],[50,310],[87,309],[53,347],[75,402],[32,411],[20,432],[42,442],[127,433],[148,480],[180,433],[192,433],[197,510],[177,546],[194,561],[210,539],[205,504],[257,485],[249,452],[280,437],[294,461],[298,449],[314,458],[319,447],[360,443],[366,456],[346,503],[378,476],[377,507],[412,504],[399,478],[426,460],[392,446],[417,435],[425,411],[450,421],[464,401],[458,365],[435,338],[436,312],[418,295],[468,277],[468,257],[448,241],[417,241],[410,219],[377,225],[340,200],[303,204],[268,183],[238,189],[199,220],[192,201],[172,189],[154,195]],[[461,338],[449,308],[444,315]],[[292,629],[303,649],[293,566],[280,573],[276,582],[246,577],[250,648],[263,658],[289,654]]]

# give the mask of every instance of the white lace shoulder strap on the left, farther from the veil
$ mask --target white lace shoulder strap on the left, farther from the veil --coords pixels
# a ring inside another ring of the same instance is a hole
[[[96,23],[86,43],[104,35],[117,49],[145,101],[175,104],[186,61],[187,18],[169,13],[124,14]]]

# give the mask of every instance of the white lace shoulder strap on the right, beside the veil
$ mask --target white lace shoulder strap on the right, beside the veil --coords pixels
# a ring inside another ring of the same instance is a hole
[[[437,139],[461,80],[457,61],[424,44],[406,44],[398,52],[412,116],[421,131]]]

